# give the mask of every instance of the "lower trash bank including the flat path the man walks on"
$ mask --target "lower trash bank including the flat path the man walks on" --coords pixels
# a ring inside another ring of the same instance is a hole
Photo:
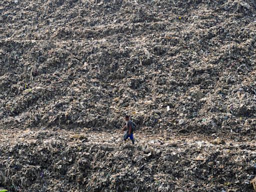
[[[107,138],[107,139],[106,139]],[[255,143],[118,132],[3,130],[9,191],[253,191]]]

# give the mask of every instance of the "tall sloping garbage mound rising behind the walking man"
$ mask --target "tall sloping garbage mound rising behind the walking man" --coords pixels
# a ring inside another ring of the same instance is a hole
[[[4,0],[0,126],[255,134],[254,0]]]

